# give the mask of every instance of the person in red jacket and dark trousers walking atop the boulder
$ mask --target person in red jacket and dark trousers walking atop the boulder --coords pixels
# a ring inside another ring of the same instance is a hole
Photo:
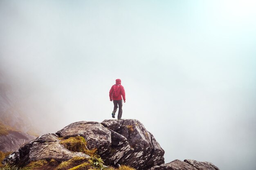
[[[118,115],[117,119],[121,119],[122,117],[122,106],[123,106],[123,98],[124,98],[124,103],[125,103],[125,91],[124,87],[121,85],[121,79],[116,79],[116,84],[114,84],[109,91],[109,98],[110,101],[114,103],[114,110],[112,112],[112,117],[115,118],[115,114],[117,112],[117,108],[119,107],[118,110]],[[117,106],[118,104],[118,106]]]

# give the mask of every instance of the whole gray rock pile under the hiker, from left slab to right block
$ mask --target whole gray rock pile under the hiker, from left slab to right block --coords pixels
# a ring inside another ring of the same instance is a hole
[[[55,159],[65,161],[74,156],[89,157],[81,152],[71,152],[60,144],[58,137],[67,139],[81,136],[87,148],[97,148],[97,154],[106,165],[127,165],[136,169],[148,169],[164,163],[164,150],[153,135],[135,119],[105,120],[102,123],[79,121],[72,123],[56,135],[36,138],[4,159],[24,166],[31,161]]]

